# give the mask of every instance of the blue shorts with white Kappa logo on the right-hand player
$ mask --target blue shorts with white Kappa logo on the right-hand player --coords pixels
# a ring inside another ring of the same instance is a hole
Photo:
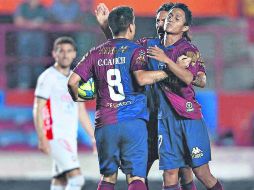
[[[159,120],[160,170],[207,164],[211,160],[211,148],[204,120],[185,119],[169,111],[167,118]]]

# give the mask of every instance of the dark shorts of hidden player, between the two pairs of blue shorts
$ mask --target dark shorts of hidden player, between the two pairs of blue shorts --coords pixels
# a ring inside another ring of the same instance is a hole
[[[148,131],[148,162],[152,163],[158,155],[158,112],[151,112],[147,123]]]

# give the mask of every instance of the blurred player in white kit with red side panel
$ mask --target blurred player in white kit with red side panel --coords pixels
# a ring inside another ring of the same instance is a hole
[[[34,125],[39,149],[53,159],[51,190],[81,190],[84,177],[77,155],[78,119],[93,142],[94,130],[84,103],[76,103],[68,93],[70,66],[76,45],[69,37],[55,40],[55,64],[38,78],[34,99]]]

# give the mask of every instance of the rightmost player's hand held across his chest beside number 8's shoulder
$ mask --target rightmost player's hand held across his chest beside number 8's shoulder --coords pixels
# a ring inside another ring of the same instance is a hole
[[[162,63],[167,63],[170,58],[165,54],[165,52],[157,46],[149,47],[147,49],[147,56]]]

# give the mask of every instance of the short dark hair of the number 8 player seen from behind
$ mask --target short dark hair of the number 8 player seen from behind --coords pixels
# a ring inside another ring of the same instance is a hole
[[[134,14],[131,7],[120,6],[114,8],[108,16],[108,25],[113,36],[126,32],[130,24],[134,23]]]

